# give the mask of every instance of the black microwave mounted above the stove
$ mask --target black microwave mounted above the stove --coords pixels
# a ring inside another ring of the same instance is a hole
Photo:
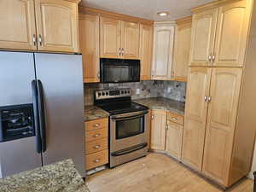
[[[101,58],[101,83],[139,82],[141,65],[139,60]]]

